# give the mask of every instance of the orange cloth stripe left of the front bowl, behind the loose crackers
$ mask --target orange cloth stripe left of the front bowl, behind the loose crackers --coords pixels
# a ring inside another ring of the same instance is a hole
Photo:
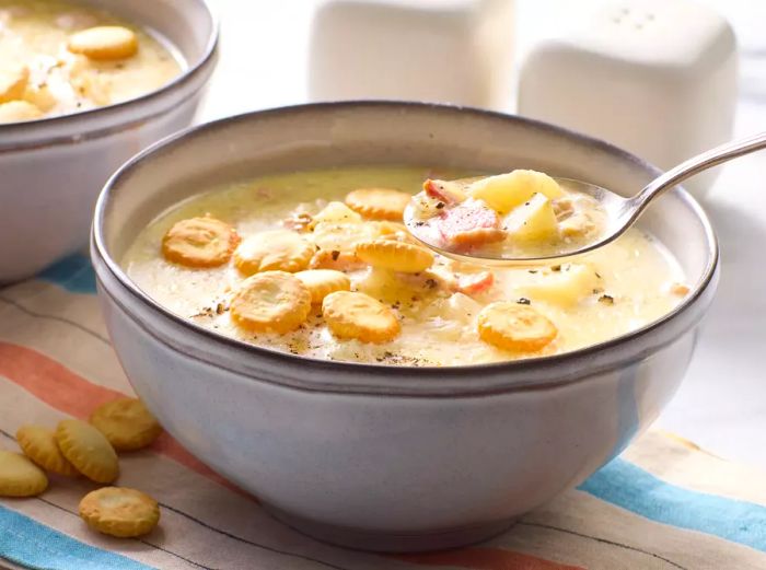
[[[8,342],[0,342],[0,375],[59,411],[83,420],[100,404],[125,396],[121,392],[93,384],[36,350]],[[197,460],[167,433],[160,435],[152,449],[229,489],[247,495]]]

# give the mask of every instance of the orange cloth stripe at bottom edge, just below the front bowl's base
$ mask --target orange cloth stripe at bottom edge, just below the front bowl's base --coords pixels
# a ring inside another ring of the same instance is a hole
[[[462,548],[442,552],[396,556],[399,560],[423,566],[451,566],[471,570],[585,570],[502,548]]]

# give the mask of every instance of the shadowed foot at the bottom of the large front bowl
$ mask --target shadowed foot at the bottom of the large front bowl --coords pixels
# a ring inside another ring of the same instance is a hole
[[[445,531],[385,533],[327,525],[286,513],[269,504],[262,503],[262,507],[271,516],[301,534],[323,543],[374,552],[421,552],[468,546],[502,534],[517,522],[517,519],[511,519]]]

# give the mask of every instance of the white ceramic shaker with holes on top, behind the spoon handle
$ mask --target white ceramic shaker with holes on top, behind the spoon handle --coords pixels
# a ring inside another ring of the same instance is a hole
[[[736,63],[732,28],[711,8],[614,0],[530,48],[518,108],[666,168],[731,138]],[[703,194],[713,177],[687,186]]]

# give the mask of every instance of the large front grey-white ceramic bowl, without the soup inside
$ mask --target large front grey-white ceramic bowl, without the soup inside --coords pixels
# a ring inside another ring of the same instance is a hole
[[[104,189],[92,258],[106,322],[163,426],[288,524],[357,548],[476,542],[581,482],[657,418],[716,289],[716,239],[674,189],[641,222],[686,271],[692,292],[676,310],[574,352],[465,368],[257,348],[170,313],[119,266],[152,218],[211,184],[365,163],[536,167],[625,194],[657,174],[604,142],[457,107],[317,104],[213,123],[143,152]]]

